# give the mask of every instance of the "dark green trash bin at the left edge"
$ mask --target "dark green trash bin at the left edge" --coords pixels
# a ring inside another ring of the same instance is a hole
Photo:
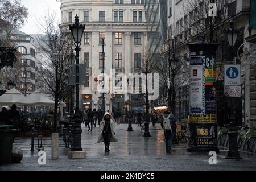
[[[13,125],[0,125],[0,164],[11,162],[11,151],[16,131]]]

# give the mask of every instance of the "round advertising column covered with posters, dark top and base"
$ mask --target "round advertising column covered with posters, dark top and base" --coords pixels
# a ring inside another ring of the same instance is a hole
[[[189,44],[190,90],[188,151],[217,151],[217,44]]]

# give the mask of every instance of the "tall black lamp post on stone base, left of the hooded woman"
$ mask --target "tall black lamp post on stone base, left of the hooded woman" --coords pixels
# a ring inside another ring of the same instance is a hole
[[[81,121],[79,117],[79,51],[81,45],[82,34],[85,29],[85,25],[79,23],[79,16],[75,16],[75,23],[69,25],[69,29],[71,30],[75,51],[76,51],[76,109],[75,109],[75,124],[72,129],[72,151],[82,151],[81,147]]]

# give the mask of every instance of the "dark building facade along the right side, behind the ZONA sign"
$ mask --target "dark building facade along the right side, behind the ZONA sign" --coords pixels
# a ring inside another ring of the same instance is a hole
[[[217,51],[217,84],[223,85],[223,65],[233,64],[234,60],[230,58],[230,50],[228,46],[228,40],[225,37],[225,29],[229,27],[230,20],[234,21],[234,26],[238,29],[238,38],[236,42],[235,49],[241,46],[241,44],[246,43],[246,41],[254,40],[254,30],[249,35],[249,17],[250,17],[250,1],[249,0],[225,0],[216,1],[217,5],[217,16],[213,18],[213,28],[210,28],[210,20],[207,15],[210,10],[208,5],[205,3],[207,1],[193,0],[168,0],[168,31],[171,35],[172,41],[174,42],[175,48],[174,53],[176,55],[183,55],[183,57],[188,57],[188,44],[192,42],[197,42],[202,40],[202,35],[208,42],[218,43]],[[201,12],[201,13],[200,13]],[[218,28],[218,31],[216,30]],[[211,31],[212,30],[212,31]],[[211,36],[212,32],[212,36]],[[246,38],[250,37],[250,38]],[[246,40],[247,39],[247,40]],[[243,53],[243,48],[249,48],[249,44],[245,44],[242,48],[240,47],[239,55]],[[240,125],[250,125],[250,80],[249,80],[249,67],[250,64],[247,62],[247,58],[241,57],[240,61],[238,55],[236,57],[236,64],[242,65],[242,82],[243,91],[242,97],[236,100],[236,110],[238,119],[238,124]],[[185,65],[185,64],[183,64]],[[179,98],[183,99],[183,104],[186,106],[185,102],[189,103],[189,92],[188,89],[184,89],[187,86],[184,85],[180,88]],[[218,110],[218,121],[223,123],[228,122],[228,98],[223,94],[223,87],[220,86],[219,94],[221,102],[217,102]],[[185,90],[185,91],[182,91]],[[184,97],[185,96],[185,97]],[[179,101],[180,102],[180,99]],[[187,109],[181,107],[181,110],[188,113]],[[254,117],[255,118],[255,117]]]

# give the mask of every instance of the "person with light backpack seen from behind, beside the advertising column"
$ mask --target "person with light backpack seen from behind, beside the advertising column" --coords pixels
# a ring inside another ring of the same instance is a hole
[[[173,138],[172,125],[173,125],[173,122],[174,122],[174,114],[170,113],[170,111],[165,111],[160,123],[164,130],[164,140],[166,143],[166,153],[167,154],[171,153],[171,148],[172,148],[172,138]]]

